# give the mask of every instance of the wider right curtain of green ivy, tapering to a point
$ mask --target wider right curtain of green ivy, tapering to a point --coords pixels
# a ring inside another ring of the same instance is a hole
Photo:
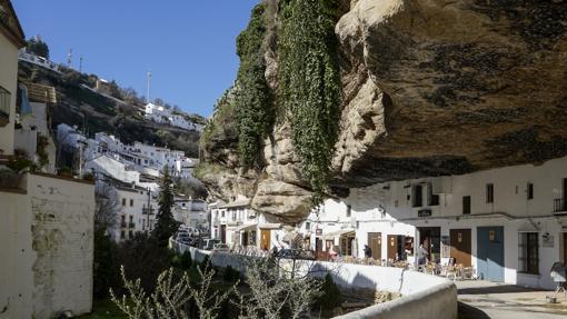
[[[291,124],[302,173],[315,191],[328,191],[340,112],[337,1],[282,1],[279,34],[279,99]]]

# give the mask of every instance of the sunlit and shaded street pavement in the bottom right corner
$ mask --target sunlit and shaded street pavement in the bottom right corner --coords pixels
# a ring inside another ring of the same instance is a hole
[[[459,319],[567,318],[565,293],[535,290],[483,280],[456,281],[459,291]],[[558,297],[559,303],[547,303],[546,296]]]

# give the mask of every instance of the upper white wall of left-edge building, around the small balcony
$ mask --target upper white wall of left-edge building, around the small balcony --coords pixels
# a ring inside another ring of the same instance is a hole
[[[11,93],[10,122],[0,127],[0,153],[13,154],[13,121],[18,93],[18,48],[0,33],[0,86]]]

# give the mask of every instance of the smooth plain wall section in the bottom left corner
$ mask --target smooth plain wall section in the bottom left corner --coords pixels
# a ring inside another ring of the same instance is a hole
[[[0,191],[0,319],[31,318],[30,212],[27,195]]]

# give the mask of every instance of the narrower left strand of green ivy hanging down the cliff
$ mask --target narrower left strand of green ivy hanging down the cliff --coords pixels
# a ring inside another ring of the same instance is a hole
[[[238,128],[238,153],[242,166],[261,165],[263,139],[272,127],[273,108],[266,82],[263,39],[266,4],[256,6],[250,22],[237,39],[240,68],[236,81],[235,111]]]

